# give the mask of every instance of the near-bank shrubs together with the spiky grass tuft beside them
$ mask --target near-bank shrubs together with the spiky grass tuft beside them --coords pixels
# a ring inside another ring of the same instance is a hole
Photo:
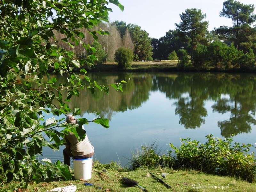
[[[179,148],[170,143],[172,150],[167,155],[162,154],[161,149],[157,149],[156,141],[150,145],[141,146],[140,149],[132,152],[130,160],[132,168],[186,167],[237,177],[249,182],[256,180],[256,156],[254,152],[248,153],[250,147],[253,147],[251,144],[240,145],[237,142],[234,143],[233,139],[220,139],[213,137],[212,134],[205,137],[207,142],[204,144],[190,138],[181,139],[182,145]],[[175,156],[172,156],[172,151]]]

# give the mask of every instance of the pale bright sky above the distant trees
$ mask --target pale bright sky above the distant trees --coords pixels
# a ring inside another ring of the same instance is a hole
[[[206,13],[209,21],[208,30],[222,25],[232,26],[231,19],[220,17],[224,0],[119,0],[124,5],[122,12],[116,5],[109,4],[113,12],[109,12],[109,20],[124,21],[126,24],[139,25],[146,30],[149,37],[165,36],[170,29],[175,29],[175,23],[180,23],[180,14],[185,9],[197,8]],[[254,4],[255,0],[239,0],[243,4]],[[254,11],[256,14],[256,10]],[[255,23],[254,23],[255,24]]]

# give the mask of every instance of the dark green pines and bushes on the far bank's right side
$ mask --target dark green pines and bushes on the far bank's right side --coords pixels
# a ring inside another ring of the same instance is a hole
[[[208,31],[206,14],[200,9],[186,9],[180,14],[180,23],[159,39],[152,38],[153,58],[173,59],[177,52],[179,65],[191,63],[196,68],[250,68],[255,65],[256,20],[254,5],[238,1],[223,2],[221,17],[233,21],[233,26],[220,26]],[[178,54],[179,52],[179,54]]]

